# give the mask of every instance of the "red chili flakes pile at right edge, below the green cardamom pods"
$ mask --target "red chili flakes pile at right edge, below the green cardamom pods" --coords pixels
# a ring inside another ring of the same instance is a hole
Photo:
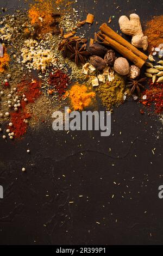
[[[154,106],[155,113],[163,113],[163,83],[151,83],[143,94],[147,96],[147,99],[142,101],[144,106]]]

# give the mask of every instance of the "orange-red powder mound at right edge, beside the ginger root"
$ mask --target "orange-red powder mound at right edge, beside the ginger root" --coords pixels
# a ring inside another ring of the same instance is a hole
[[[153,17],[152,20],[147,22],[147,29],[145,35],[148,36],[149,51],[152,47],[158,47],[163,43],[163,15]]]

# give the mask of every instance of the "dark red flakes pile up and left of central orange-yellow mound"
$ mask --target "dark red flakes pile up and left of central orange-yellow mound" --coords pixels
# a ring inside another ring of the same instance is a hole
[[[49,75],[48,83],[55,88],[60,97],[66,92],[69,82],[69,77],[61,70],[54,70],[54,72]]]

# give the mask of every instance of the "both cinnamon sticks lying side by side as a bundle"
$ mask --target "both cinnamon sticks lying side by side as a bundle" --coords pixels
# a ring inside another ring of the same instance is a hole
[[[102,40],[104,45],[111,46],[114,50],[121,53],[123,57],[138,66],[138,68],[142,68],[148,58],[146,54],[139,51],[135,46],[122,38],[122,36],[114,32],[106,23],[102,24],[100,30],[101,31],[97,33],[97,37]]]

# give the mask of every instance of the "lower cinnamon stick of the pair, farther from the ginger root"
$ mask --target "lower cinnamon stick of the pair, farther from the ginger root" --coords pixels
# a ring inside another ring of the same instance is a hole
[[[102,32],[99,32],[97,34],[98,38],[104,41],[103,43],[106,45],[111,46],[114,48],[117,52],[121,53],[122,56],[129,59],[131,62],[133,62],[138,68],[142,68],[142,66],[145,64],[145,60],[138,57],[135,53],[131,52],[128,48],[121,45],[119,42],[111,39],[109,36],[103,34]]]

